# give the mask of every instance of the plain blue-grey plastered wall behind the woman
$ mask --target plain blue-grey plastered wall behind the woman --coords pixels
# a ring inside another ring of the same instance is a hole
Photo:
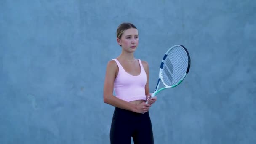
[[[150,89],[185,45],[191,69],[150,110],[155,144],[256,143],[255,0],[1,0],[0,144],[109,144],[117,26],[139,29]]]

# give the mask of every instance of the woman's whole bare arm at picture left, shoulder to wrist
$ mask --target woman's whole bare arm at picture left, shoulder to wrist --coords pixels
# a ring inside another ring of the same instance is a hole
[[[131,104],[127,101],[119,99],[113,96],[114,80],[117,72],[117,65],[115,61],[109,61],[107,64],[105,81],[104,81],[104,103],[110,104],[114,107],[126,109],[132,112],[138,112],[138,108],[135,104]]]

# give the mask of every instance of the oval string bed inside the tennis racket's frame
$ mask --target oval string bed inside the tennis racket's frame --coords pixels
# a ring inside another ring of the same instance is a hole
[[[179,83],[188,67],[188,56],[181,47],[172,48],[167,54],[162,71],[162,81],[166,86]]]

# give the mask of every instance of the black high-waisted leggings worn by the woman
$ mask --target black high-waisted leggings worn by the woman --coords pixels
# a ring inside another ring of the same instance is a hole
[[[110,129],[111,144],[154,144],[149,112],[139,114],[115,107]]]

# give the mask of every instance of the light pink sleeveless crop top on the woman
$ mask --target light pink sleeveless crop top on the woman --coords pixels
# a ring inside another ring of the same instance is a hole
[[[146,101],[145,85],[147,83],[147,74],[143,68],[141,60],[138,59],[141,67],[140,74],[136,76],[126,72],[117,59],[112,60],[115,60],[119,67],[118,75],[114,81],[116,97],[128,102],[135,100]]]

